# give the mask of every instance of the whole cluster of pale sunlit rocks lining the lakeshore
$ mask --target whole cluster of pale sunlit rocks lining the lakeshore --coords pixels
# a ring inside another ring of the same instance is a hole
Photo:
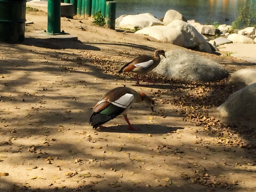
[[[256,43],[255,28],[247,27],[239,30],[237,34],[229,34],[231,26],[201,25],[195,20],[186,20],[183,15],[175,10],[169,10],[164,18],[158,20],[150,13],[137,15],[121,15],[116,19],[116,27],[122,29],[137,29],[136,34],[144,34],[156,38],[158,41],[172,43],[197,51],[212,53],[218,48],[216,46],[226,43]],[[204,35],[215,35],[218,37],[212,41]]]

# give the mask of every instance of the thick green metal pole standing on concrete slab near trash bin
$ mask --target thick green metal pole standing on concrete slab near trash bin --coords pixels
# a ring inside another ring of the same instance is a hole
[[[60,0],[48,0],[47,32],[54,35],[60,32]]]

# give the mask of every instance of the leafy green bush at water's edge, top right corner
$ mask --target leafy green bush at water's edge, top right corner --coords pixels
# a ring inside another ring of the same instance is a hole
[[[249,1],[237,12],[236,20],[232,22],[233,29],[243,29],[245,27],[256,27],[255,3]]]

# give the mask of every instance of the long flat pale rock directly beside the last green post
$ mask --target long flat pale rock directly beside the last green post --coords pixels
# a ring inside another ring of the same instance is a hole
[[[116,26],[123,29],[135,29],[150,27],[155,25],[163,25],[163,22],[156,19],[150,13],[142,13],[136,15],[121,15],[116,19]]]

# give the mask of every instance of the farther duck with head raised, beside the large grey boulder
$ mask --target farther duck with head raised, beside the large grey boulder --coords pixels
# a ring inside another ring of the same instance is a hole
[[[129,63],[126,63],[118,73],[121,74],[123,72],[134,72],[136,73],[136,85],[140,85],[139,76],[141,76],[141,80],[149,83],[154,83],[148,79],[145,79],[145,75],[153,70],[161,61],[160,55],[165,57],[164,50],[156,50],[154,56],[150,55],[140,55],[139,57],[133,59]],[[165,57],[166,58],[166,57]]]

